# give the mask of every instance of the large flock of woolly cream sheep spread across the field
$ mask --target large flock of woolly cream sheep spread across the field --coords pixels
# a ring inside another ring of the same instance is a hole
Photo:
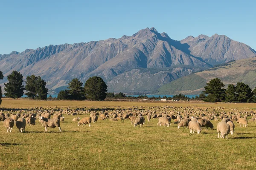
[[[78,108],[76,110],[70,108],[31,108],[30,111],[6,111],[6,113],[0,112],[0,121],[3,121],[4,127],[7,132],[12,132],[14,124],[16,125],[19,132],[24,132],[26,125],[35,125],[35,121],[41,123],[45,127],[55,128],[58,127],[61,132],[60,122],[64,121],[63,115],[84,115],[90,114],[90,116],[80,119],[75,117],[74,122],[78,122],[77,125],[84,126],[89,125],[91,122],[95,123],[98,120],[109,119],[109,121],[123,121],[129,119],[131,125],[142,127],[145,124],[145,118],[150,122],[151,119],[158,119],[157,126],[169,127],[171,120],[173,119],[174,124],[177,124],[177,128],[186,127],[190,133],[200,133],[202,127],[213,129],[212,121],[219,121],[217,124],[218,138],[227,138],[230,133],[233,135],[235,124],[239,123],[240,127],[247,127],[247,116],[252,116],[249,121],[255,121],[256,112],[254,111],[239,111],[233,109],[232,111],[225,112],[223,108],[194,108],[194,107],[151,107],[145,109],[144,107],[133,107],[133,108],[116,108],[115,110],[104,108],[97,111],[85,110],[84,108]]]

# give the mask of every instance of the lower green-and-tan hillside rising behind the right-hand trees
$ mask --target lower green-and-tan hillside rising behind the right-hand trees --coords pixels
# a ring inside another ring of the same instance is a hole
[[[226,88],[228,84],[244,82],[250,88],[256,87],[256,57],[241,59],[228,63],[226,66],[210,68],[189,76],[182,77],[166,85],[163,85],[156,94],[200,94],[204,91],[204,86],[210,79],[219,78],[224,82]]]

